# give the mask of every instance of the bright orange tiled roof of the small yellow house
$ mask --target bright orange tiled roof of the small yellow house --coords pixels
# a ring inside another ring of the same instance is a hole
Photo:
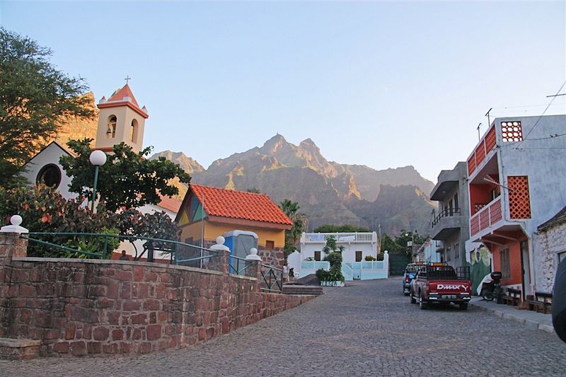
[[[189,189],[199,201],[204,195],[204,211],[209,216],[293,225],[284,211],[265,194],[192,184]]]

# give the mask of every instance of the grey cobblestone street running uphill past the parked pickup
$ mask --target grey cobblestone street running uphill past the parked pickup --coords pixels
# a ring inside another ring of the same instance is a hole
[[[145,356],[0,361],[2,376],[565,376],[558,337],[456,306],[421,311],[400,279],[351,282],[205,344]]]

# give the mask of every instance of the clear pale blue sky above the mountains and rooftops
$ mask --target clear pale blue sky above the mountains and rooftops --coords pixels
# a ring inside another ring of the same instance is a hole
[[[566,80],[563,1],[0,1],[0,25],[50,47],[97,102],[132,77],[144,146],[205,168],[279,133],[436,182],[490,108],[566,113],[566,96],[547,98]]]

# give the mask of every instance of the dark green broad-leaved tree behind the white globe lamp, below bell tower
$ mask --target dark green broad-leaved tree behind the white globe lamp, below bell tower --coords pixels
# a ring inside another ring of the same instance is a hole
[[[67,175],[73,177],[69,191],[89,197],[94,180],[94,166],[88,160],[91,155],[91,139],[71,140],[67,143],[76,157],[63,156],[61,165]],[[135,208],[144,204],[161,202],[159,194],[177,195],[179,190],[170,184],[177,177],[181,182],[190,182],[190,175],[176,163],[165,157],[149,160],[151,146],[139,153],[125,143],[116,144],[106,163],[100,167],[97,192],[110,211],[122,207]]]

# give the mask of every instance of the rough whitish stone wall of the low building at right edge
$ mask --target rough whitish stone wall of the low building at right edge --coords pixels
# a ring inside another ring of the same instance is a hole
[[[566,223],[557,224],[536,234],[533,248],[535,289],[552,292],[558,268],[558,253],[566,252]]]

